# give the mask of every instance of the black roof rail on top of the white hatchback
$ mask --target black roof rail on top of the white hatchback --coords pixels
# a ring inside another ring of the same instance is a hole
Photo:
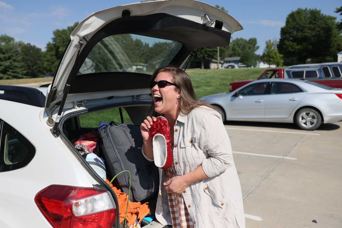
[[[43,108],[45,95],[32,87],[0,85],[0,100],[18,102]]]

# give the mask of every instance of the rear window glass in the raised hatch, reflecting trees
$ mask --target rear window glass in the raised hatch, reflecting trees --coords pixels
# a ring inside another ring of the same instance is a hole
[[[168,65],[182,43],[135,34],[111,35],[98,42],[84,60],[78,75],[100,72],[152,74]]]

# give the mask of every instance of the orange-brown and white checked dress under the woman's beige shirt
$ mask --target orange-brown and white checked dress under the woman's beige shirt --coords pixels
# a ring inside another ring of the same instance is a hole
[[[176,176],[174,164],[166,170],[166,180]],[[168,192],[169,206],[172,218],[173,228],[194,228],[193,220],[190,217],[185,205],[183,195],[175,195]]]

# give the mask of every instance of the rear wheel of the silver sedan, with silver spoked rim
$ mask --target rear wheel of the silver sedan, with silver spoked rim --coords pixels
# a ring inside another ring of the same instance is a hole
[[[305,108],[297,112],[294,122],[300,129],[313,131],[321,125],[322,118],[316,110]]]

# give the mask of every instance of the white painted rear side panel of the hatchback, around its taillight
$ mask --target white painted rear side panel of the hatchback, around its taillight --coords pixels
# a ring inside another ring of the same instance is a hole
[[[50,228],[50,223],[34,201],[40,190],[52,184],[93,187],[98,183],[62,139],[51,134],[51,127],[46,124],[47,117],[42,116],[44,108],[5,100],[0,100],[0,106],[11,110],[2,112],[1,119],[36,148],[36,154],[27,166],[0,172],[1,186],[6,186],[0,188],[0,227]]]

